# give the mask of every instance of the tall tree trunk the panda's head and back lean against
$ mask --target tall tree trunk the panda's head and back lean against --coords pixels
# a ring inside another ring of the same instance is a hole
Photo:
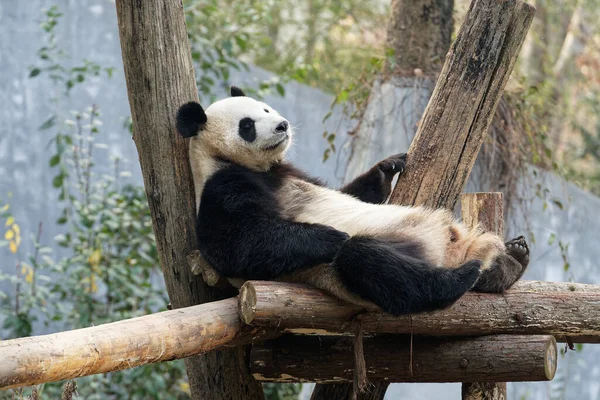
[[[223,293],[196,279],[187,262],[196,248],[194,185],[175,115],[181,104],[198,101],[198,94],[183,5],[175,0],[116,5],[133,139],[171,303],[179,308],[218,300]],[[244,362],[246,351],[187,358],[192,398],[262,398]]]

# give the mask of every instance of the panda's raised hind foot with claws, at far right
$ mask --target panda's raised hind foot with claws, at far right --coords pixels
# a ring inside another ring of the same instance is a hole
[[[529,247],[523,236],[506,243],[506,250],[498,254],[490,268],[483,271],[473,290],[502,293],[518,281],[529,264]]]

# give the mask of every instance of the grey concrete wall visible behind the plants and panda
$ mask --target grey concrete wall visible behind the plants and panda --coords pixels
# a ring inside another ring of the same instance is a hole
[[[102,66],[116,67],[111,80],[96,79],[76,88],[61,108],[80,110],[97,104],[102,110],[104,122],[98,142],[109,145],[107,150],[97,150],[96,154],[106,161],[105,165],[100,163],[98,172],[108,168],[110,154],[117,154],[129,161],[125,168],[132,171],[132,181],[141,184],[133,141],[122,127],[124,117],[129,115],[129,105],[114,2],[0,0],[0,199],[6,200],[9,192],[13,194],[10,202],[23,231],[23,254],[32,250],[27,238],[35,233],[40,221],[44,223],[42,242],[52,243],[52,238],[61,232],[61,227],[54,223],[59,208],[56,205],[57,192],[51,186],[54,171],[48,168],[51,153],[46,144],[49,132],[38,130],[52,111],[53,106],[48,99],[53,87],[45,78],[27,78],[27,67],[37,62],[36,51],[42,46],[39,28],[42,17],[38,10],[51,4],[57,4],[65,14],[59,24],[59,41],[74,63],[78,64],[86,58]],[[268,76],[265,71],[252,68],[250,73],[234,74],[231,83],[251,84]],[[321,120],[329,110],[331,100],[330,95],[294,83],[286,87],[285,98],[267,98],[267,102],[297,126],[291,159],[310,173],[324,177],[337,186],[344,177],[348,156],[344,147],[348,143],[347,136],[343,133],[350,126],[342,121],[339,112],[327,121],[325,127],[322,125]],[[325,129],[338,132],[336,144],[341,151],[323,163],[321,159],[326,143],[321,134]],[[405,151],[411,137],[403,134],[403,137],[396,139],[380,151],[387,154]],[[376,158],[374,155],[369,157]],[[600,237],[600,200],[552,175],[541,179],[553,195],[563,200],[565,211],[553,207],[543,211],[541,200],[535,197],[531,189],[534,184],[531,180],[524,182],[523,187],[531,199],[530,211],[526,215],[537,238],[537,243],[532,246],[532,265],[525,279],[561,281],[571,277],[562,270],[563,262],[556,245],[547,244],[548,236],[555,232],[570,243],[568,253],[573,278],[579,282],[600,283],[597,261],[600,259],[600,246],[597,245]],[[476,186],[472,184],[470,187]],[[516,227],[509,229],[514,235],[521,230]],[[56,251],[60,255],[60,249]],[[6,249],[0,249],[0,260],[0,269],[3,271],[14,269],[15,258]],[[0,290],[5,289],[0,286]],[[595,360],[599,356],[600,347],[587,345],[582,354],[570,353],[568,359],[560,359],[559,376],[566,376],[566,382],[569,383],[565,399],[598,399],[600,367]],[[509,398],[521,399],[525,396],[527,399],[546,399],[551,394],[559,393],[563,383],[557,379],[553,383],[511,384]],[[398,384],[390,387],[386,398],[456,399],[459,396],[458,384]]]

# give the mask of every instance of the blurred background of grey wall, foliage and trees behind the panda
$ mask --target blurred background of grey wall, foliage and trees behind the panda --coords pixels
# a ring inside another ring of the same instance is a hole
[[[203,105],[232,84],[263,98],[296,126],[292,161],[339,186],[408,149],[469,1],[184,6]],[[600,2],[535,6],[466,190],[504,193],[507,236],[532,244],[525,279],[600,284]],[[166,309],[114,1],[0,0],[0,101],[0,339]],[[509,384],[509,399],[600,399],[600,348],[561,350],[552,382]],[[84,399],[189,397],[181,360],[76,383]],[[60,398],[63,383],[38,390]],[[394,384],[386,398],[459,396]]]

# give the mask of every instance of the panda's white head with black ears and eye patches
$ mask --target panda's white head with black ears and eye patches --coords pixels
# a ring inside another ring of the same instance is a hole
[[[267,104],[231,87],[231,97],[205,110],[184,104],[177,113],[177,130],[191,138],[191,149],[252,169],[265,170],[281,161],[292,141],[289,122]]]

